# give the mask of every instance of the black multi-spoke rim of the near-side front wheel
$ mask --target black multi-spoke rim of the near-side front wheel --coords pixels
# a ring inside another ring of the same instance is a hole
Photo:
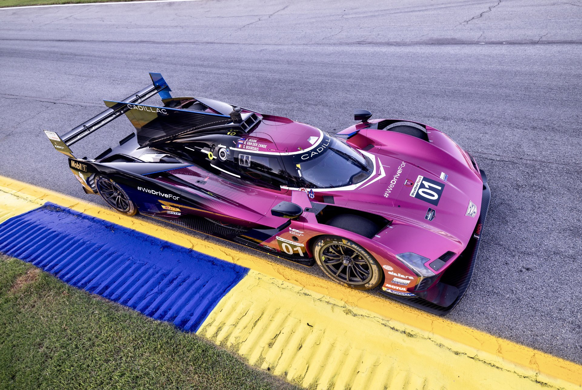
[[[345,244],[332,243],[321,248],[321,263],[335,279],[349,284],[365,284],[372,273],[364,255]]]

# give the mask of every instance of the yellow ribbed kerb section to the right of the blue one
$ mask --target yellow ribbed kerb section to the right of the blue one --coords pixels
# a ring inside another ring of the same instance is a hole
[[[307,388],[576,388],[253,270],[197,334]]]

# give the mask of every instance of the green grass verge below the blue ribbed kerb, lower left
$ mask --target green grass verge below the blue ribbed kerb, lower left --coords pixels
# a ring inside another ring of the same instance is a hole
[[[0,389],[293,389],[193,333],[0,254]]]

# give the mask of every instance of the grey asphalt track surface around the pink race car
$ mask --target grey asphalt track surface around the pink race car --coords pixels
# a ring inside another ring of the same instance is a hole
[[[149,71],[175,96],[328,131],[354,108],[424,122],[469,150],[492,189],[473,281],[449,319],[582,363],[581,43],[581,1],[0,9],[0,175],[103,204],[41,129],[68,131]],[[120,118],[72,149],[94,157],[131,131]]]

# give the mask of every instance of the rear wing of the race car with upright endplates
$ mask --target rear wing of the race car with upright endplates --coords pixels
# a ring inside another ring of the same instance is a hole
[[[69,146],[85,138],[86,136],[96,131],[97,129],[103,127],[104,125],[107,125],[109,122],[118,118],[120,115],[125,114],[129,110],[128,104],[139,104],[147,99],[150,99],[156,93],[159,93],[159,97],[162,100],[172,98],[172,96],[169,93],[172,90],[170,89],[168,83],[166,83],[164,77],[162,77],[161,74],[150,73],[150,77],[152,85],[146,86],[144,89],[141,89],[141,91],[138,91],[133,95],[123,99],[123,103],[127,104],[122,104],[113,108],[109,108],[103,111],[101,114],[95,115],[90,120],[83,122],[79,126],[66,132],[62,136],[59,136],[57,133],[53,131],[44,130],[48,139],[51,140],[52,146],[54,146],[55,149],[60,151],[61,153],[74,158],[73,152],[70,150]]]

